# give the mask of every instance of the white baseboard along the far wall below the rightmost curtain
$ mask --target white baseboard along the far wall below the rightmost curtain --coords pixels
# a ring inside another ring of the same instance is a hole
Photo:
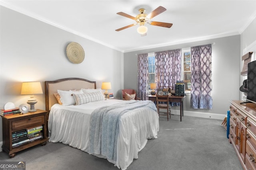
[[[174,115],[180,115],[180,110],[174,110],[171,111]],[[203,118],[209,118],[209,119],[219,119],[224,120],[226,114],[216,114],[216,113],[204,113],[204,112],[196,112],[196,111],[184,111],[184,116],[193,116],[193,117],[203,117]]]

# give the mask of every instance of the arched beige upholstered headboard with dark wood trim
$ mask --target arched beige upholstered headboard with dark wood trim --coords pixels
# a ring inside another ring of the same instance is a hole
[[[55,81],[45,81],[45,108],[50,111],[51,107],[58,103],[54,97],[57,90],[80,90],[81,88],[96,89],[96,82],[83,78],[62,78]]]

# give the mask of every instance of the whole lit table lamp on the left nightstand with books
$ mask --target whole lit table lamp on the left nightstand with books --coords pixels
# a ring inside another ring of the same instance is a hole
[[[36,111],[35,104],[37,103],[36,98],[34,98],[34,94],[43,94],[42,86],[40,82],[23,82],[21,87],[21,95],[30,94],[30,99],[27,104],[30,104],[29,112]]]

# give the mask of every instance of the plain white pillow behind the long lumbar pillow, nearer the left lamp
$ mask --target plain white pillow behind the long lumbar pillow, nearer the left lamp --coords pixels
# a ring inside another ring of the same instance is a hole
[[[78,91],[64,91],[64,90],[57,90],[58,94],[60,95],[60,101],[62,102],[62,106],[69,106],[72,104],[76,104],[74,96],[72,94],[82,94],[82,90]]]

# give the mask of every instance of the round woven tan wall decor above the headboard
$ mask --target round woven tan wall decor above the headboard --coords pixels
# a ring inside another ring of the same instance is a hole
[[[68,59],[74,64],[79,64],[84,61],[84,49],[76,42],[71,42],[68,44],[66,53]]]

